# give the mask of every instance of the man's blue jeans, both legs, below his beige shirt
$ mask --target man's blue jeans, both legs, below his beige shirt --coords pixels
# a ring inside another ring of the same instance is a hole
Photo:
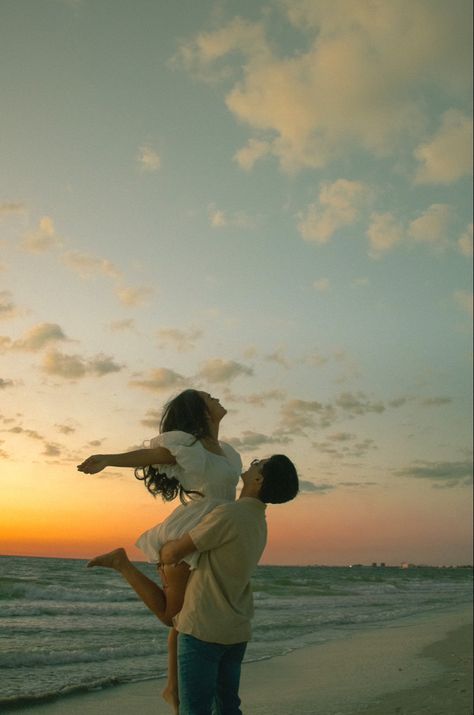
[[[178,636],[180,715],[242,715],[240,667],[247,643],[222,645]]]

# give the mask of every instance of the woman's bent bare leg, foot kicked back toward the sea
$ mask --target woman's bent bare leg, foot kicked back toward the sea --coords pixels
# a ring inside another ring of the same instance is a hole
[[[107,554],[96,556],[87,564],[88,568],[102,566],[103,568],[115,569],[130,584],[135,593],[140,596],[145,606],[157,616],[165,625],[170,625],[170,619],[166,613],[166,594],[157,583],[145,576],[132,564],[125,549],[115,549]]]

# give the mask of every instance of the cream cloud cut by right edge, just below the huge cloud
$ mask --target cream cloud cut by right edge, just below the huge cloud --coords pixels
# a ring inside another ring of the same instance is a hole
[[[450,109],[439,131],[415,150],[419,184],[451,184],[472,173],[472,119]]]

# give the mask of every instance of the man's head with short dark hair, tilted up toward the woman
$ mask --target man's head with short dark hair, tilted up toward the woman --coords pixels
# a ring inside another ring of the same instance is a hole
[[[268,459],[254,459],[242,474],[241,496],[260,499],[265,504],[283,504],[298,494],[299,483],[295,465],[284,454]]]

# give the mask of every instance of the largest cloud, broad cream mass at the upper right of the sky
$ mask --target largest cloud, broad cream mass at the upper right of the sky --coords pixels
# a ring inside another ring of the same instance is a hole
[[[232,81],[226,105],[252,132],[235,155],[244,169],[270,153],[289,172],[354,148],[393,153],[424,130],[427,88],[470,86],[467,3],[456,12],[432,0],[278,5],[304,35],[292,56],[277,54],[263,22],[240,18],[180,47],[187,69]]]

